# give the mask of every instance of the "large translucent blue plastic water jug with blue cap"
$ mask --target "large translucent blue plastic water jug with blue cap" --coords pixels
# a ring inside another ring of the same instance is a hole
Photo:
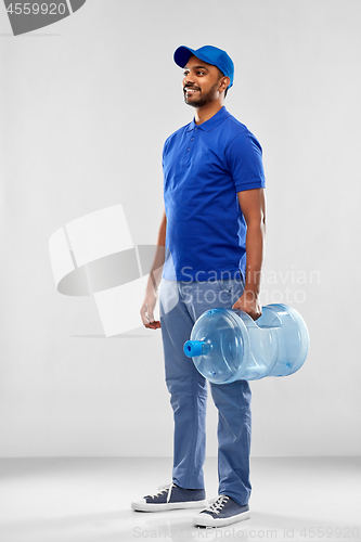
[[[267,305],[254,321],[241,310],[210,309],[195,322],[184,353],[214,384],[287,376],[305,363],[309,334],[287,305]]]

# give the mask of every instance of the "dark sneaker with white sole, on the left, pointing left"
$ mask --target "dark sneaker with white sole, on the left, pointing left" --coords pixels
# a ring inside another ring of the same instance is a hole
[[[140,501],[131,503],[137,512],[163,512],[180,508],[202,508],[206,506],[204,489],[183,489],[170,483],[159,488],[155,495],[145,495]]]

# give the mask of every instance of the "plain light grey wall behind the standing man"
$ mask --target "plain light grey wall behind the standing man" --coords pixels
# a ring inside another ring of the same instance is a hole
[[[155,242],[163,142],[193,116],[172,53],[207,43],[263,147],[262,299],[311,335],[299,373],[252,384],[253,454],[360,454],[360,20],[357,0],[88,0],[14,38],[0,9],[1,456],[171,454],[160,332],[102,337],[92,299],[55,291],[48,241],[121,203]],[[211,399],[208,426],[214,455]]]

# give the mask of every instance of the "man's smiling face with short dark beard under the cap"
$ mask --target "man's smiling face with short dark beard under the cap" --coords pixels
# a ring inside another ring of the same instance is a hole
[[[222,74],[216,66],[191,56],[184,68],[184,102],[192,107],[203,107],[219,96]]]

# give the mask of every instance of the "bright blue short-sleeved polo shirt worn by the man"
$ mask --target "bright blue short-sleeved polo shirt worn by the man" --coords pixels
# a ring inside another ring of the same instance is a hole
[[[163,150],[167,216],[163,278],[215,281],[246,269],[246,223],[237,192],[265,188],[262,149],[222,107],[180,128]]]

